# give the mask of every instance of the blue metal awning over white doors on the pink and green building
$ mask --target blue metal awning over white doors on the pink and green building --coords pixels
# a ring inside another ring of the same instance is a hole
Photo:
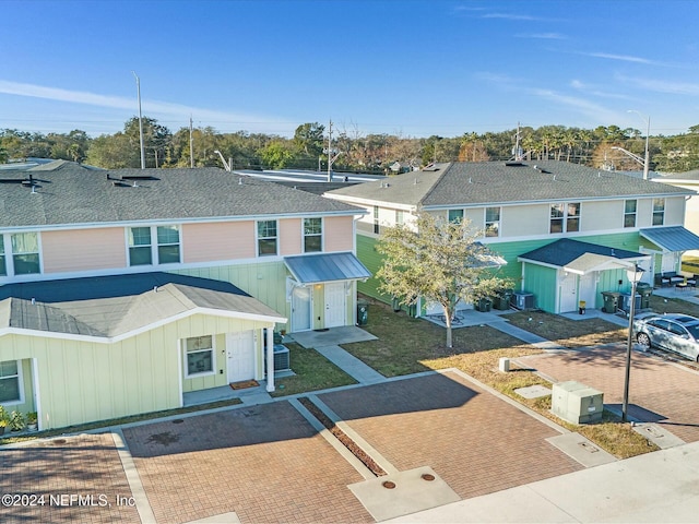
[[[363,281],[371,273],[353,253],[317,253],[284,257],[284,263],[300,284]]]

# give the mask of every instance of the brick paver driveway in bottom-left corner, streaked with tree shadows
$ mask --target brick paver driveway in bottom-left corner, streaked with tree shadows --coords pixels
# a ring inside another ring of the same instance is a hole
[[[2,449],[0,493],[2,523],[141,522],[111,433]]]

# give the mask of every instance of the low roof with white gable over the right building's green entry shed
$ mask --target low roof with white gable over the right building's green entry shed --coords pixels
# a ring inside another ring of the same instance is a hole
[[[562,269],[587,275],[595,271],[627,269],[649,255],[564,238],[518,257],[520,262]]]

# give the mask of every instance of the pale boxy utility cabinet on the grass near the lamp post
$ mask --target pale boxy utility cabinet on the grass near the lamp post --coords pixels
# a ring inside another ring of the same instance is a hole
[[[603,396],[580,382],[558,382],[552,393],[552,412],[571,424],[597,422],[602,420]]]

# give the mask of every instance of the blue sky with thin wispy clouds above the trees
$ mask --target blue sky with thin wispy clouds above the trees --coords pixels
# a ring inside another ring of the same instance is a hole
[[[3,0],[0,129],[699,124],[695,0]]]

